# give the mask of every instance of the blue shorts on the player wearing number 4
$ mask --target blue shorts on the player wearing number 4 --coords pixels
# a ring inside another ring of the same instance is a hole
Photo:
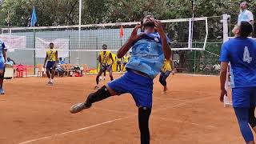
[[[236,87],[232,89],[234,107],[256,106],[256,87]]]

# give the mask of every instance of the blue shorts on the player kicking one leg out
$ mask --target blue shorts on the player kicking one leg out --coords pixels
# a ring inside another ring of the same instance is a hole
[[[153,79],[128,70],[121,78],[109,82],[107,86],[118,94],[130,93],[136,106],[152,108]]]

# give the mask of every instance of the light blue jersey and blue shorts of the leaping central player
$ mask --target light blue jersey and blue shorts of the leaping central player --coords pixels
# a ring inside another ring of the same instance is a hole
[[[170,39],[167,39],[167,42],[170,42]],[[158,33],[145,34],[134,42],[130,60],[126,64],[126,74],[109,82],[110,89],[118,94],[130,93],[136,106],[151,109],[153,79],[160,72],[164,62],[161,42]]]

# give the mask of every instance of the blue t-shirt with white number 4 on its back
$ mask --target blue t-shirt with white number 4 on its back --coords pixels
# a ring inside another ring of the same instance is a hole
[[[256,86],[256,42],[231,38],[222,45],[220,62],[230,62],[231,87]]]

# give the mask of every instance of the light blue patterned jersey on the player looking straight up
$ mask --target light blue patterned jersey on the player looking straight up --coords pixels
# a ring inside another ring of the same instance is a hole
[[[169,43],[170,39],[166,38]],[[130,61],[126,64],[126,68],[138,70],[153,79],[162,69],[164,59],[160,35],[158,33],[145,34],[137,42],[134,42]]]

